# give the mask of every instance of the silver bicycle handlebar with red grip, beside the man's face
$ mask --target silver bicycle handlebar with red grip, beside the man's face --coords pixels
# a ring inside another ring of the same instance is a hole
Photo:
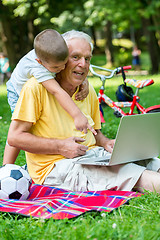
[[[111,74],[110,74],[110,75],[107,75],[107,76],[104,75],[104,74],[99,74],[99,73],[95,72],[93,68],[99,69],[99,70],[101,70],[101,71],[107,71],[107,72],[110,72]],[[108,79],[109,79],[109,78],[112,78],[112,77],[114,76],[114,74],[121,73],[121,72],[122,72],[122,68],[123,68],[123,70],[129,70],[129,69],[132,68],[132,66],[129,65],[129,66],[124,66],[124,67],[117,67],[117,68],[115,68],[115,69],[113,69],[113,70],[107,69],[107,68],[103,68],[103,67],[99,67],[99,66],[92,65],[92,64],[90,64],[90,67],[89,67],[91,73],[92,73],[93,75],[101,78],[102,81],[105,80],[105,79],[107,79],[107,78],[108,78]]]

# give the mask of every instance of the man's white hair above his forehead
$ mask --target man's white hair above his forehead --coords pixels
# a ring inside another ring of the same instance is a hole
[[[93,51],[92,39],[87,33],[76,31],[76,30],[71,30],[71,31],[63,33],[62,37],[64,38],[66,43],[68,43],[71,39],[74,39],[74,38],[85,39],[90,44],[91,51]]]

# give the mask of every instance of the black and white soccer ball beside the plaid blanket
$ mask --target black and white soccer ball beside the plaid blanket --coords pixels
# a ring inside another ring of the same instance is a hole
[[[26,200],[31,178],[28,172],[15,164],[0,167],[0,198]]]

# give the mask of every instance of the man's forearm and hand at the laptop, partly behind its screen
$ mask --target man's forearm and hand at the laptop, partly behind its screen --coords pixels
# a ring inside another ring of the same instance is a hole
[[[108,152],[112,152],[115,140],[105,137],[100,130],[96,130],[96,132],[96,145],[104,147]]]

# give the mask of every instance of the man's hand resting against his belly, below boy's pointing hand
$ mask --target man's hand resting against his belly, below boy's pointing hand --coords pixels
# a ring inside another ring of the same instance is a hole
[[[85,155],[88,147],[80,143],[85,139],[79,137],[70,137],[62,141],[62,147],[59,148],[59,154],[66,158],[75,158]]]

